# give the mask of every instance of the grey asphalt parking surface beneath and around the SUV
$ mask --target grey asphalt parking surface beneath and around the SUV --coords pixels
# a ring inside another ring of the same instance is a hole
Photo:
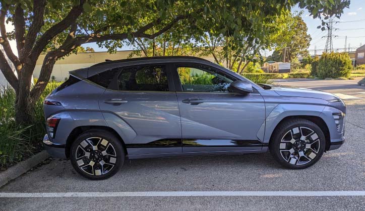
[[[343,93],[344,90],[336,91]],[[52,160],[2,187],[0,192],[363,191],[365,99],[348,100],[346,104],[346,142],[340,149],[325,153],[317,164],[307,169],[283,169],[270,153],[142,159],[127,161],[112,178],[90,181],[79,176],[68,160]],[[0,210],[246,209],[365,210],[365,196],[0,198]]]

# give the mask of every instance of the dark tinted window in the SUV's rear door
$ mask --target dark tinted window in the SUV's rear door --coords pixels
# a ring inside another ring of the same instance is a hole
[[[164,65],[135,66],[121,69],[118,90],[168,91],[166,67]]]

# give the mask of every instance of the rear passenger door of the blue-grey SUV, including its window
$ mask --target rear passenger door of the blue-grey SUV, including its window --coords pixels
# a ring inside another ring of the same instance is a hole
[[[137,134],[124,140],[129,155],[181,152],[180,117],[169,66],[149,64],[112,71],[116,74],[99,106],[123,119]]]

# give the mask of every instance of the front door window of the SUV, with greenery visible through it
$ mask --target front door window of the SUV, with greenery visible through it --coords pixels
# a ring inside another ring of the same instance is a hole
[[[224,72],[204,65],[177,66],[182,91],[228,92],[235,79]]]

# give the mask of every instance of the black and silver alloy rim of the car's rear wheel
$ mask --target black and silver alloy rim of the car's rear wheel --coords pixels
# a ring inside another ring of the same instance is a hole
[[[83,140],[77,147],[75,156],[79,168],[95,176],[108,173],[116,162],[113,145],[99,137]]]

